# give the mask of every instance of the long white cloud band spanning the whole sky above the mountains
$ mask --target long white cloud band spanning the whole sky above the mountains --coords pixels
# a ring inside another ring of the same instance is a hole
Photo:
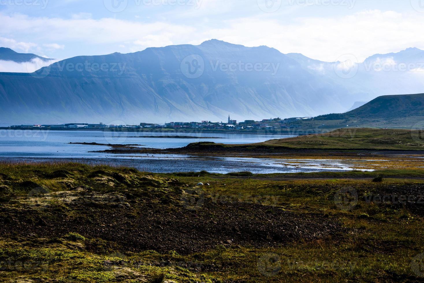
[[[13,34],[15,38],[28,38],[40,45],[43,42],[57,42],[59,46],[73,44],[77,46],[76,55],[86,53],[78,51],[78,46],[83,46],[81,50],[96,46],[92,48],[93,53],[100,54],[103,51],[99,51],[99,44],[109,48],[111,44],[125,44],[128,50],[139,51],[170,44],[200,44],[212,38],[245,46],[267,45],[283,53],[302,53],[322,61],[336,61],[344,54],[353,54],[358,61],[363,61],[375,53],[390,53],[406,47],[424,49],[424,33],[419,29],[424,25],[424,17],[419,13],[367,10],[345,16],[285,21],[284,17],[278,17],[285,11],[263,13],[258,8],[257,14],[251,17],[228,17],[227,20],[204,17],[208,11],[217,13],[218,8],[226,13],[234,6],[225,4],[227,2],[204,0],[199,9],[182,13],[190,20],[184,21],[179,14],[178,21],[175,17],[163,17],[161,21],[148,23],[139,19],[60,19],[0,14],[0,36]]]

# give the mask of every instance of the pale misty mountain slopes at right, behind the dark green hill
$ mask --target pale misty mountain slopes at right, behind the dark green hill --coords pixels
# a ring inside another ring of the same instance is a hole
[[[355,101],[370,101],[381,95],[421,93],[424,90],[424,51],[407,48],[398,53],[376,54],[355,64],[353,55],[346,62],[324,62],[298,53],[287,54],[314,75],[331,78],[349,89]]]

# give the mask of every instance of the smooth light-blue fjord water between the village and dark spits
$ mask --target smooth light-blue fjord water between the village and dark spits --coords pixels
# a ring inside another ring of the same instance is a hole
[[[133,136],[194,136],[184,138],[134,138]],[[202,137],[216,137],[206,139]],[[290,136],[270,136],[227,133],[140,133],[140,132],[102,132],[102,131],[62,131],[62,130],[0,130],[1,157],[50,157],[50,158],[93,158],[111,154],[90,153],[107,150],[107,146],[94,146],[73,143],[98,144],[139,144],[148,148],[185,147],[192,142],[216,142],[226,144],[247,144],[264,142],[269,139],[284,139]]]

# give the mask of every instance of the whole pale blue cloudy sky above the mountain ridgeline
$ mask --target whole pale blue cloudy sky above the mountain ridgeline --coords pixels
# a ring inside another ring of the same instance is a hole
[[[0,22],[0,47],[55,59],[209,39],[322,61],[424,49],[424,0],[0,0]]]

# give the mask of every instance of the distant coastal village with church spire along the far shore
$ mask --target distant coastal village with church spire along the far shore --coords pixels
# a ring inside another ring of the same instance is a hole
[[[262,121],[245,120],[238,122],[228,117],[227,122],[169,122],[164,124],[140,123],[139,125],[107,125],[103,123],[69,123],[50,125],[12,125],[10,129],[50,129],[50,130],[110,130],[110,129],[204,129],[204,130],[280,130],[297,128],[301,120],[312,117],[288,119],[263,119]]]

